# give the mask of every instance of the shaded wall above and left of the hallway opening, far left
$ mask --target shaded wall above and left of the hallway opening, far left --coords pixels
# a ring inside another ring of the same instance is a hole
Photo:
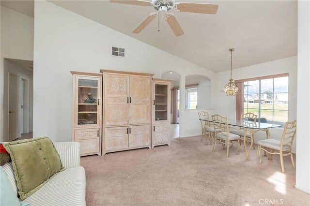
[[[4,58],[33,60],[33,18],[1,6],[0,33],[0,141],[8,136],[7,105],[4,100]]]

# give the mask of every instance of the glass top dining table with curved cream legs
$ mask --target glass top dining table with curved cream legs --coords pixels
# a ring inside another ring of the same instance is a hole
[[[213,122],[212,119],[200,118],[199,120]],[[217,121],[215,121],[215,122],[217,122]],[[223,123],[223,122],[217,122],[217,123]],[[281,127],[281,125],[278,125],[278,124],[270,124],[270,123],[263,123],[263,122],[253,122],[253,121],[238,120],[238,119],[228,119],[228,125],[244,128],[244,130],[242,132],[244,132],[243,141],[244,141],[244,148],[245,148],[245,152],[246,152],[246,160],[247,161],[250,160],[250,158],[249,158],[249,151],[250,151],[251,147],[253,147],[254,133],[257,132],[257,131],[264,131],[264,132],[266,132],[266,138],[270,139],[269,129],[270,128]],[[246,137],[247,131],[249,132],[250,138],[251,138],[251,144],[250,144],[249,147],[247,147],[247,142],[246,142],[246,140],[247,140],[247,137]]]

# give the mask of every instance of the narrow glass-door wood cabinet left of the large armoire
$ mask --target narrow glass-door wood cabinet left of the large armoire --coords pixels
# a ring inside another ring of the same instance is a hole
[[[73,72],[73,141],[80,155],[101,155],[102,74]]]

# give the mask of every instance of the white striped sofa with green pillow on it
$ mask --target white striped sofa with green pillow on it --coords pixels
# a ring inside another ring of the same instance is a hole
[[[85,206],[85,170],[80,166],[78,142],[54,143],[66,168],[23,202],[31,206]],[[18,195],[12,163],[2,166]]]

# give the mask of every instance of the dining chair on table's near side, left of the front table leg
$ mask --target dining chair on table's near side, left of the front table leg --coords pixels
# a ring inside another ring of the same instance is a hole
[[[228,118],[222,117],[218,114],[212,116],[213,126],[215,130],[215,141],[213,145],[213,152],[217,143],[222,144],[223,149],[227,145],[227,157],[229,157],[229,147],[238,144],[237,154],[240,149],[240,136],[229,132]]]

